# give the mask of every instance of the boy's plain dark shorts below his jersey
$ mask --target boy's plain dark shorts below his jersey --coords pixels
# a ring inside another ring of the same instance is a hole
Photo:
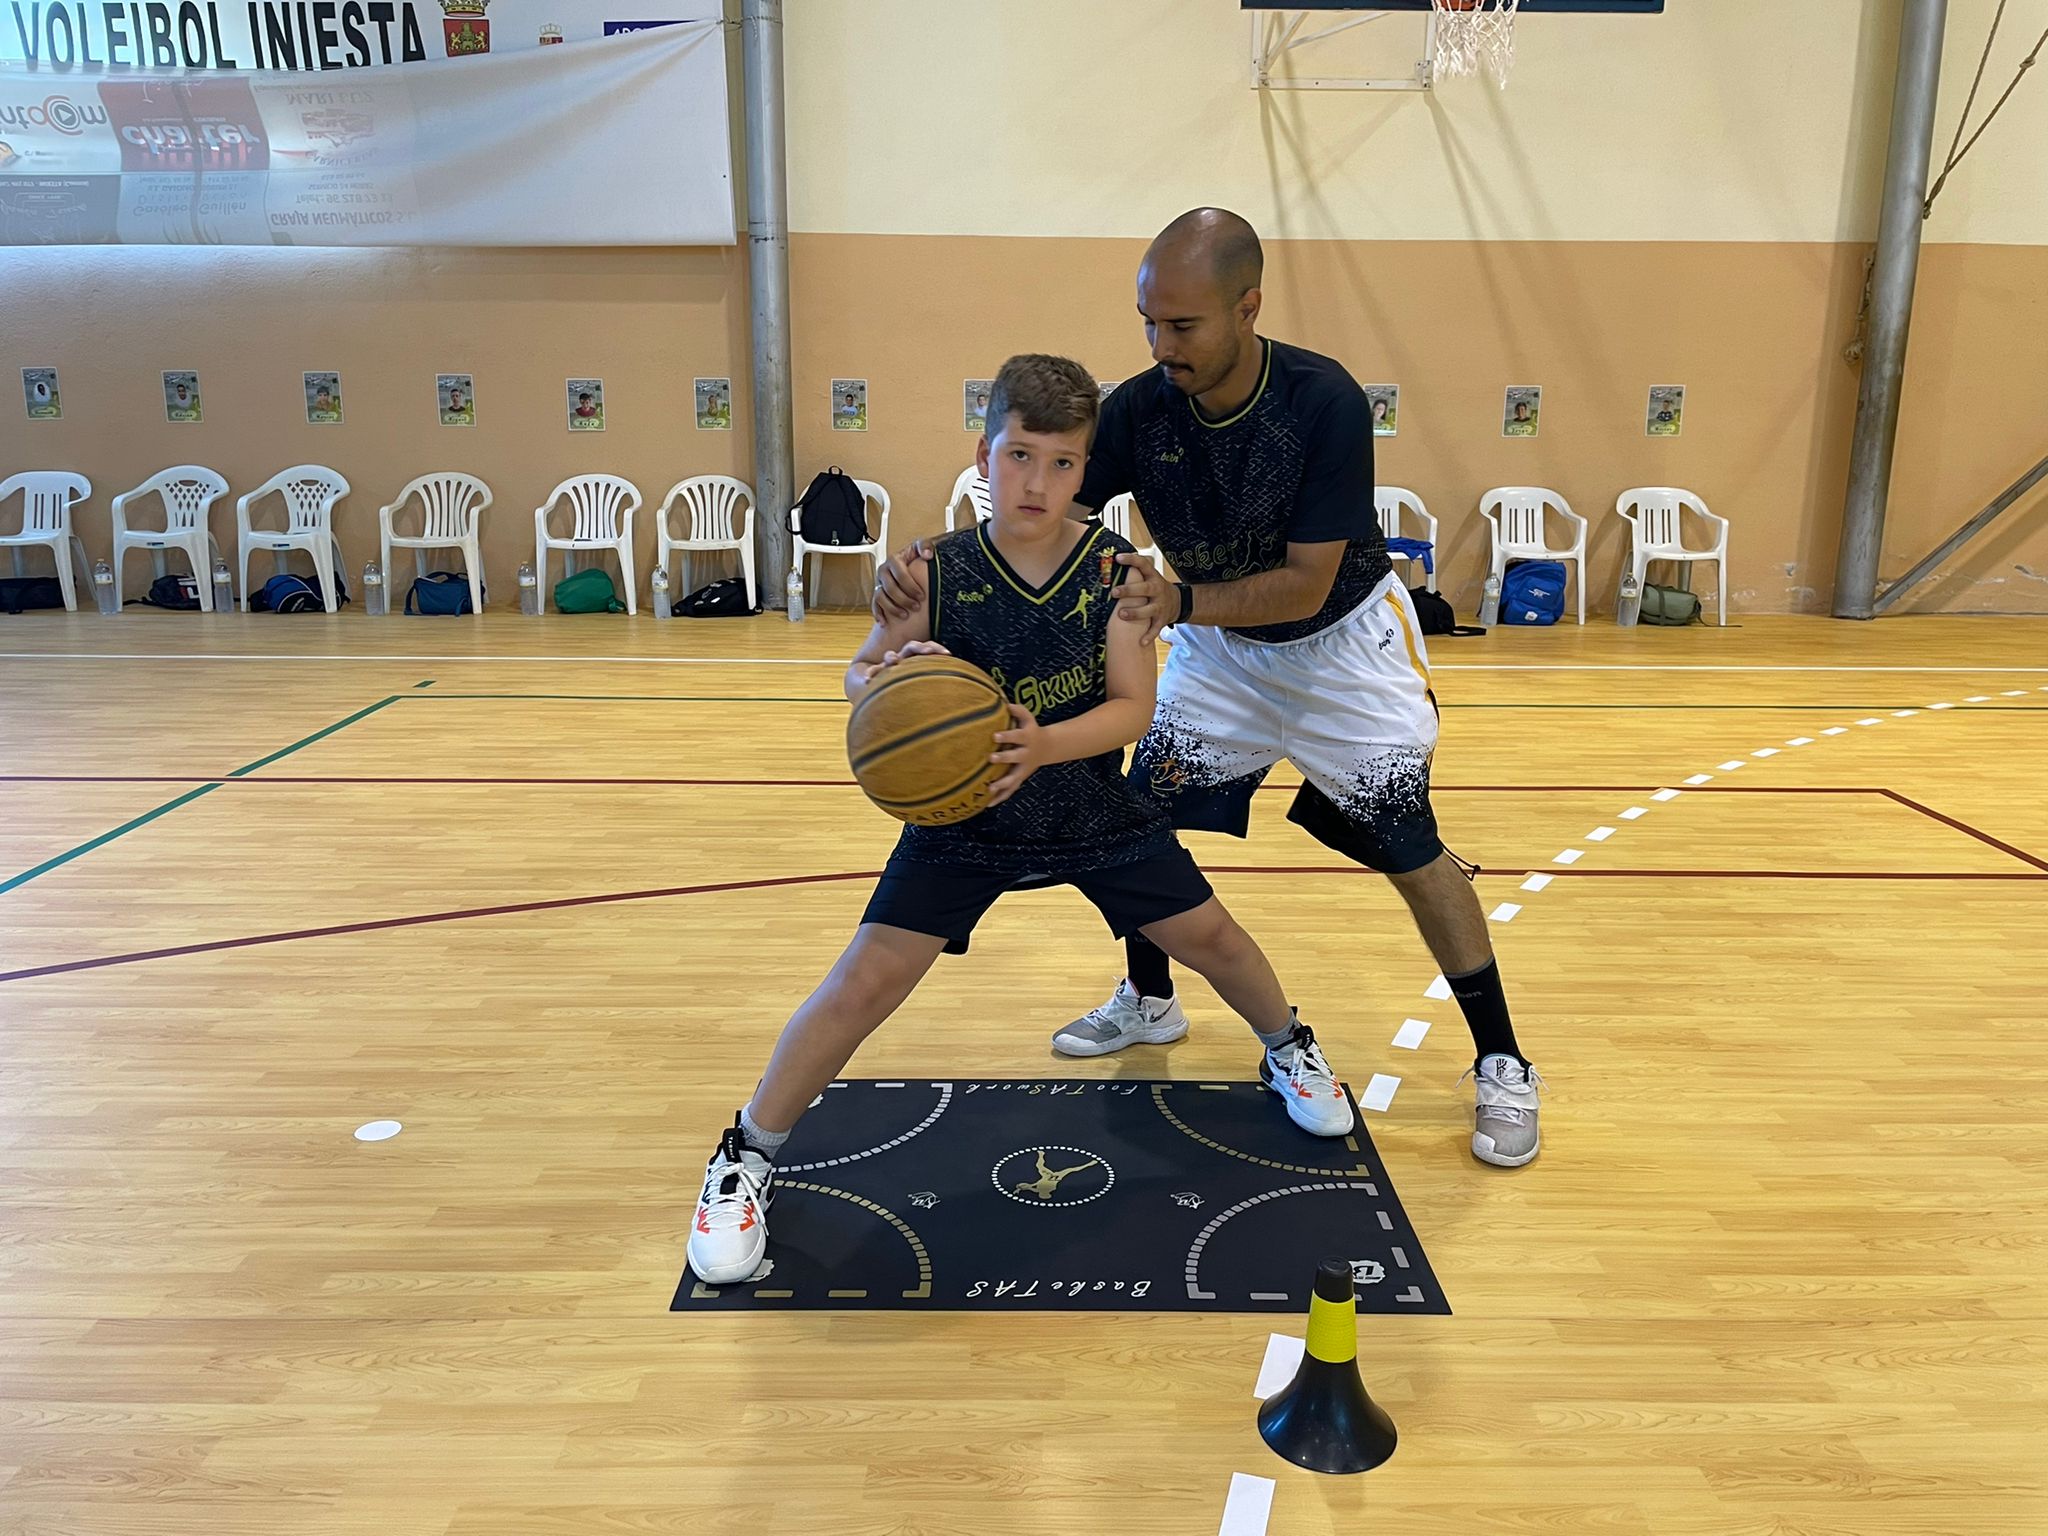
[[[860,922],[930,934],[946,940],[946,954],[967,954],[967,938],[981,922],[981,913],[995,905],[995,897],[1004,891],[1036,891],[1049,885],[1071,885],[1094,901],[1116,938],[1194,911],[1214,895],[1194,856],[1180,844],[1130,864],[1077,874],[1006,874],[893,856]]]

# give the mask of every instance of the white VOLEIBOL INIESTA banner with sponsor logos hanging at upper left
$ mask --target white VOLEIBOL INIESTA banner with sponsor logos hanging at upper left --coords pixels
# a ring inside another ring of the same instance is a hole
[[[92,41],[111,47],[100,20]],[[47,12],[39,25],[49,49]],[[496,51],[500,31],[485,57],[438,57],[436,35],[426,61],[326,74],[0,63],[0,246],[733,244],[721,25],[584,31]],[[236,57],[254,37],[207,47]]]

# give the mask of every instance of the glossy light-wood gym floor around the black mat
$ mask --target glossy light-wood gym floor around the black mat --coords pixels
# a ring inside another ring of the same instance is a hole
[[[0,1532],[1206,1536],[1233,1473],[1276,1536],[2048,1530],[2048,627],[1438,641],[1550,1079],[1522,1171],[1466,1153],[1393,891],[1284,795],[1196,840],[1337,1069],[1401,1077],[1454,1315],[1364,1321],[1401,1450],[1346,1481],[1257,1440],[1268,1317],[666,1311],[891,842],[856,635],[0,625]],[[1116,975],[1012,897],[852,1073],[1251,1073],[1194,985],[1182,1044],[1055,1063]]]

